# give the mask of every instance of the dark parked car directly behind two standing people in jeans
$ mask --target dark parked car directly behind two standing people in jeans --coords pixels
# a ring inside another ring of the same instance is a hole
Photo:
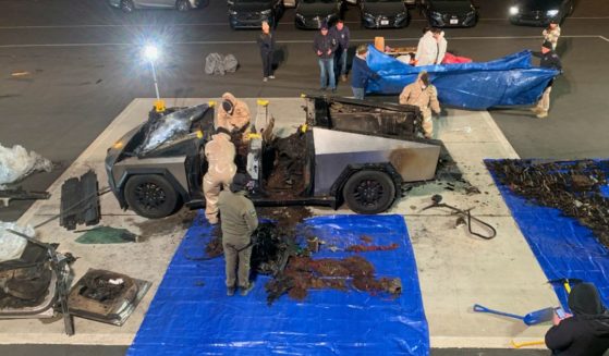
[[[297,28],[321,28],[322,23],[333,25],[341,16],[341,0],[300,0],[296,5]]]

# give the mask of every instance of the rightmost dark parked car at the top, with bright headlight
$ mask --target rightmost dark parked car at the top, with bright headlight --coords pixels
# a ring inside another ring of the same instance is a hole
[[[510,22],[531,26],[547,26],[552,20],[561,23],[573,13],[573,0],[514,0]]]

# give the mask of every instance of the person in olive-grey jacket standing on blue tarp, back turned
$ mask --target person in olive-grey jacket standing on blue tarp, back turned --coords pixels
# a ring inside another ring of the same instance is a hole
[[[245,196],[248,177],[235,174],[230,188],[222,191],[218,199],[222,229],[222,247],[227,272],[227,295],[234,295],[235,282],[241,295],[247,295],[254,287],[249,282],[249,259],[252,258],[252,234],[258,228],[258,216],[254,204]],[[236,273],[235,273],[236,271]]]

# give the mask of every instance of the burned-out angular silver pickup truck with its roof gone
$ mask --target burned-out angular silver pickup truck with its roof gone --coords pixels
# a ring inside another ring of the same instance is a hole
[[[417,108],[307,96],[306,121],[288,137],[252,135],[237,145],[237,168],[255,181],[257,206],[346,202],[358,213],[391,207],[406,182],[435,177],[441,143],[421,138]],[[110,187],[123,209],[162,218],[202,207],[205,143],[214,133],[207,105],[175,110],[132,130],[108,149]],[[258,130],[264,130],[258,125]]]

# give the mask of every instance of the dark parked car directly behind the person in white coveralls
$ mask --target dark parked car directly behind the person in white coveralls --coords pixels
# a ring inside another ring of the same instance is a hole
[[[421,11],[433,27],[473,27],[478,22],[471,0],[421,0]]]

